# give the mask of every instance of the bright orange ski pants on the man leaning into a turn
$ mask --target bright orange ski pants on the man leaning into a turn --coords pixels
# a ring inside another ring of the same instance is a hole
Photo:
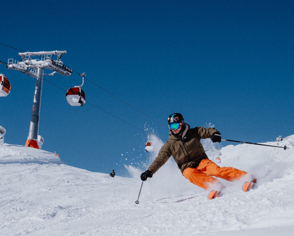
[[[246,175],[247,172],[232,167],[219,167],[209,159],[203,159],[196,168],[188,167],[184,169],[183,176],[192,184],[205,190],[221,190],[225,186],[216,178],[227,181],[235,181]]]

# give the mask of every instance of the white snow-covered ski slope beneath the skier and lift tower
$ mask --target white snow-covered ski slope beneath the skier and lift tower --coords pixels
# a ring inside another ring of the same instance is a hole
[[[204,141],[209,146],[210,140]],[[68,166],[54,154],[0,146],[1,235],[293,235],[294,135],[269,145],[212,146],[211,159],[255,175],[258,189],[230,183],[225,194],[186,180],[171,158],[143,183],[142,170],[123,178]],[[228,144],[228,143],[226,143]]]

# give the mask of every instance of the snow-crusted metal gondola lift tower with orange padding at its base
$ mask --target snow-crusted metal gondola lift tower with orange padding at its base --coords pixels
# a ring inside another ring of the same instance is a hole
[[[36,77],[29,136],[25,146],[41,149],[44,139],[38,135],[38,131],[43,76],[55,75],[56,72],[65,76],[71,75],[72,69],[63,65],[63,62],[60,60],[63,54],[66,54],[66,51],[20,52],[19,57],[21,57],[21,61],[8,59],[8,63],[6,64],[7,68],[20,71],[31,77]],[[54,56],[57,56],[55,60],[53,60]],[[44,70],[53,70],[53,72],[45,74]]]

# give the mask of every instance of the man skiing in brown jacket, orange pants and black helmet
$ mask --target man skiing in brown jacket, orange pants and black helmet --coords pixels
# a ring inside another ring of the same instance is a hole
[[[161,147],[158,156],[141,174],[141,180],[151,178],[166,161],[173,156],[183,176],[191,183],[210,191],[208,199],[222,196],[221,190],[225,186],[216,178],[235,181],[246,177],[247,172],[232,167],[220,167],[208,159],[200,142],[201,138],[211,138],[213,143],[221,141],[220,132],[215,128],[190,128],[180,113],[173,113],[168,117],[169,138]],[[245,182],[243,191],[247,192],[254,187],[256,179],[248,175],[251,181]]]

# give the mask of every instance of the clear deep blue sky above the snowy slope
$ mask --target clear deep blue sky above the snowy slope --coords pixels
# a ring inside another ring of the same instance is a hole
[[[20,59],[11,47],[66,50],[64,64],[100,87],[85,81],[86,101],[107,113],[66,102],[64,90],[81,84],[76,73],[44,77],[62,89],[43,82],[42,149],[71,166],[126,175],[124,164],[149,158],[146,127],[166,141],[174,112],[225,139],[294,134],[293,1],[6,1],[1,9],[0,43],[10,46],[0,45],[1,61]],[[5,142],[24,145],[36,79],[5,64],[0,72],[12,86],[0,98]]]

